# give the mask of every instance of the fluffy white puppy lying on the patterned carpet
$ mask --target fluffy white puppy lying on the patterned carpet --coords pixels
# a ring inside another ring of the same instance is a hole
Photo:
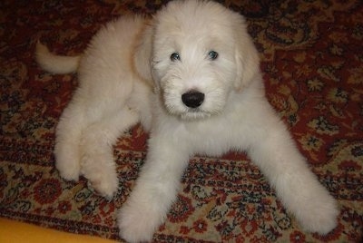
[[[150,131],[140,178],[119,212],[122,238],[152,239],[193,154],[230,150],[248,152],[303,228],[327,234],[336,227],[336,202],[267,102],[258,53],[237,13],[176,1],[152,19],[107,24],[82,57],[55,55],[42,44],[36,54],[44,70],[79,73],[56,129],[56,168],[65,180],[83,175],[113,197],[113,144],[137,122]]]

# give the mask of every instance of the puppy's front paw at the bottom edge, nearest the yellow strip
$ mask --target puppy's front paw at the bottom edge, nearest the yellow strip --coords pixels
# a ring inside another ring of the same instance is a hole
[[[146,202],[131,204],[126,202],[118,215],[121,238],[127,242],[149,242],[154,231],[162,224],[163,215],[152,209]]]

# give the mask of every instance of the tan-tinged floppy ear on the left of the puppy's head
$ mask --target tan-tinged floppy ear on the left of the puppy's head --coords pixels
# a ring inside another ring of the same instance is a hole
[[[143,81],[153,86],[151,70],[152,39],[152,21],[147,20],[141,33],[136,37],[137,43],[134,47],[132,63],[135,73],[139,74]]]

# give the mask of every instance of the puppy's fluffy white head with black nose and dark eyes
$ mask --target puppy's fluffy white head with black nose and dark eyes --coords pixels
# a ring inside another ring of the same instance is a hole
[[[231,92],[259,71],[241,15],[204,1],[175,1],[154,16],[152,79],[165,108],[182,119],[221,113]]]

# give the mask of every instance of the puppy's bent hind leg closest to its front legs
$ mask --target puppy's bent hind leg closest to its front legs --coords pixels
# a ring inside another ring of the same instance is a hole
[[[80,146],[81,174],[89,180],[94,190],[106,198],[112,198],[118,189],[113,144],[138,121],[139,113],[125,107],[83,130]]]

